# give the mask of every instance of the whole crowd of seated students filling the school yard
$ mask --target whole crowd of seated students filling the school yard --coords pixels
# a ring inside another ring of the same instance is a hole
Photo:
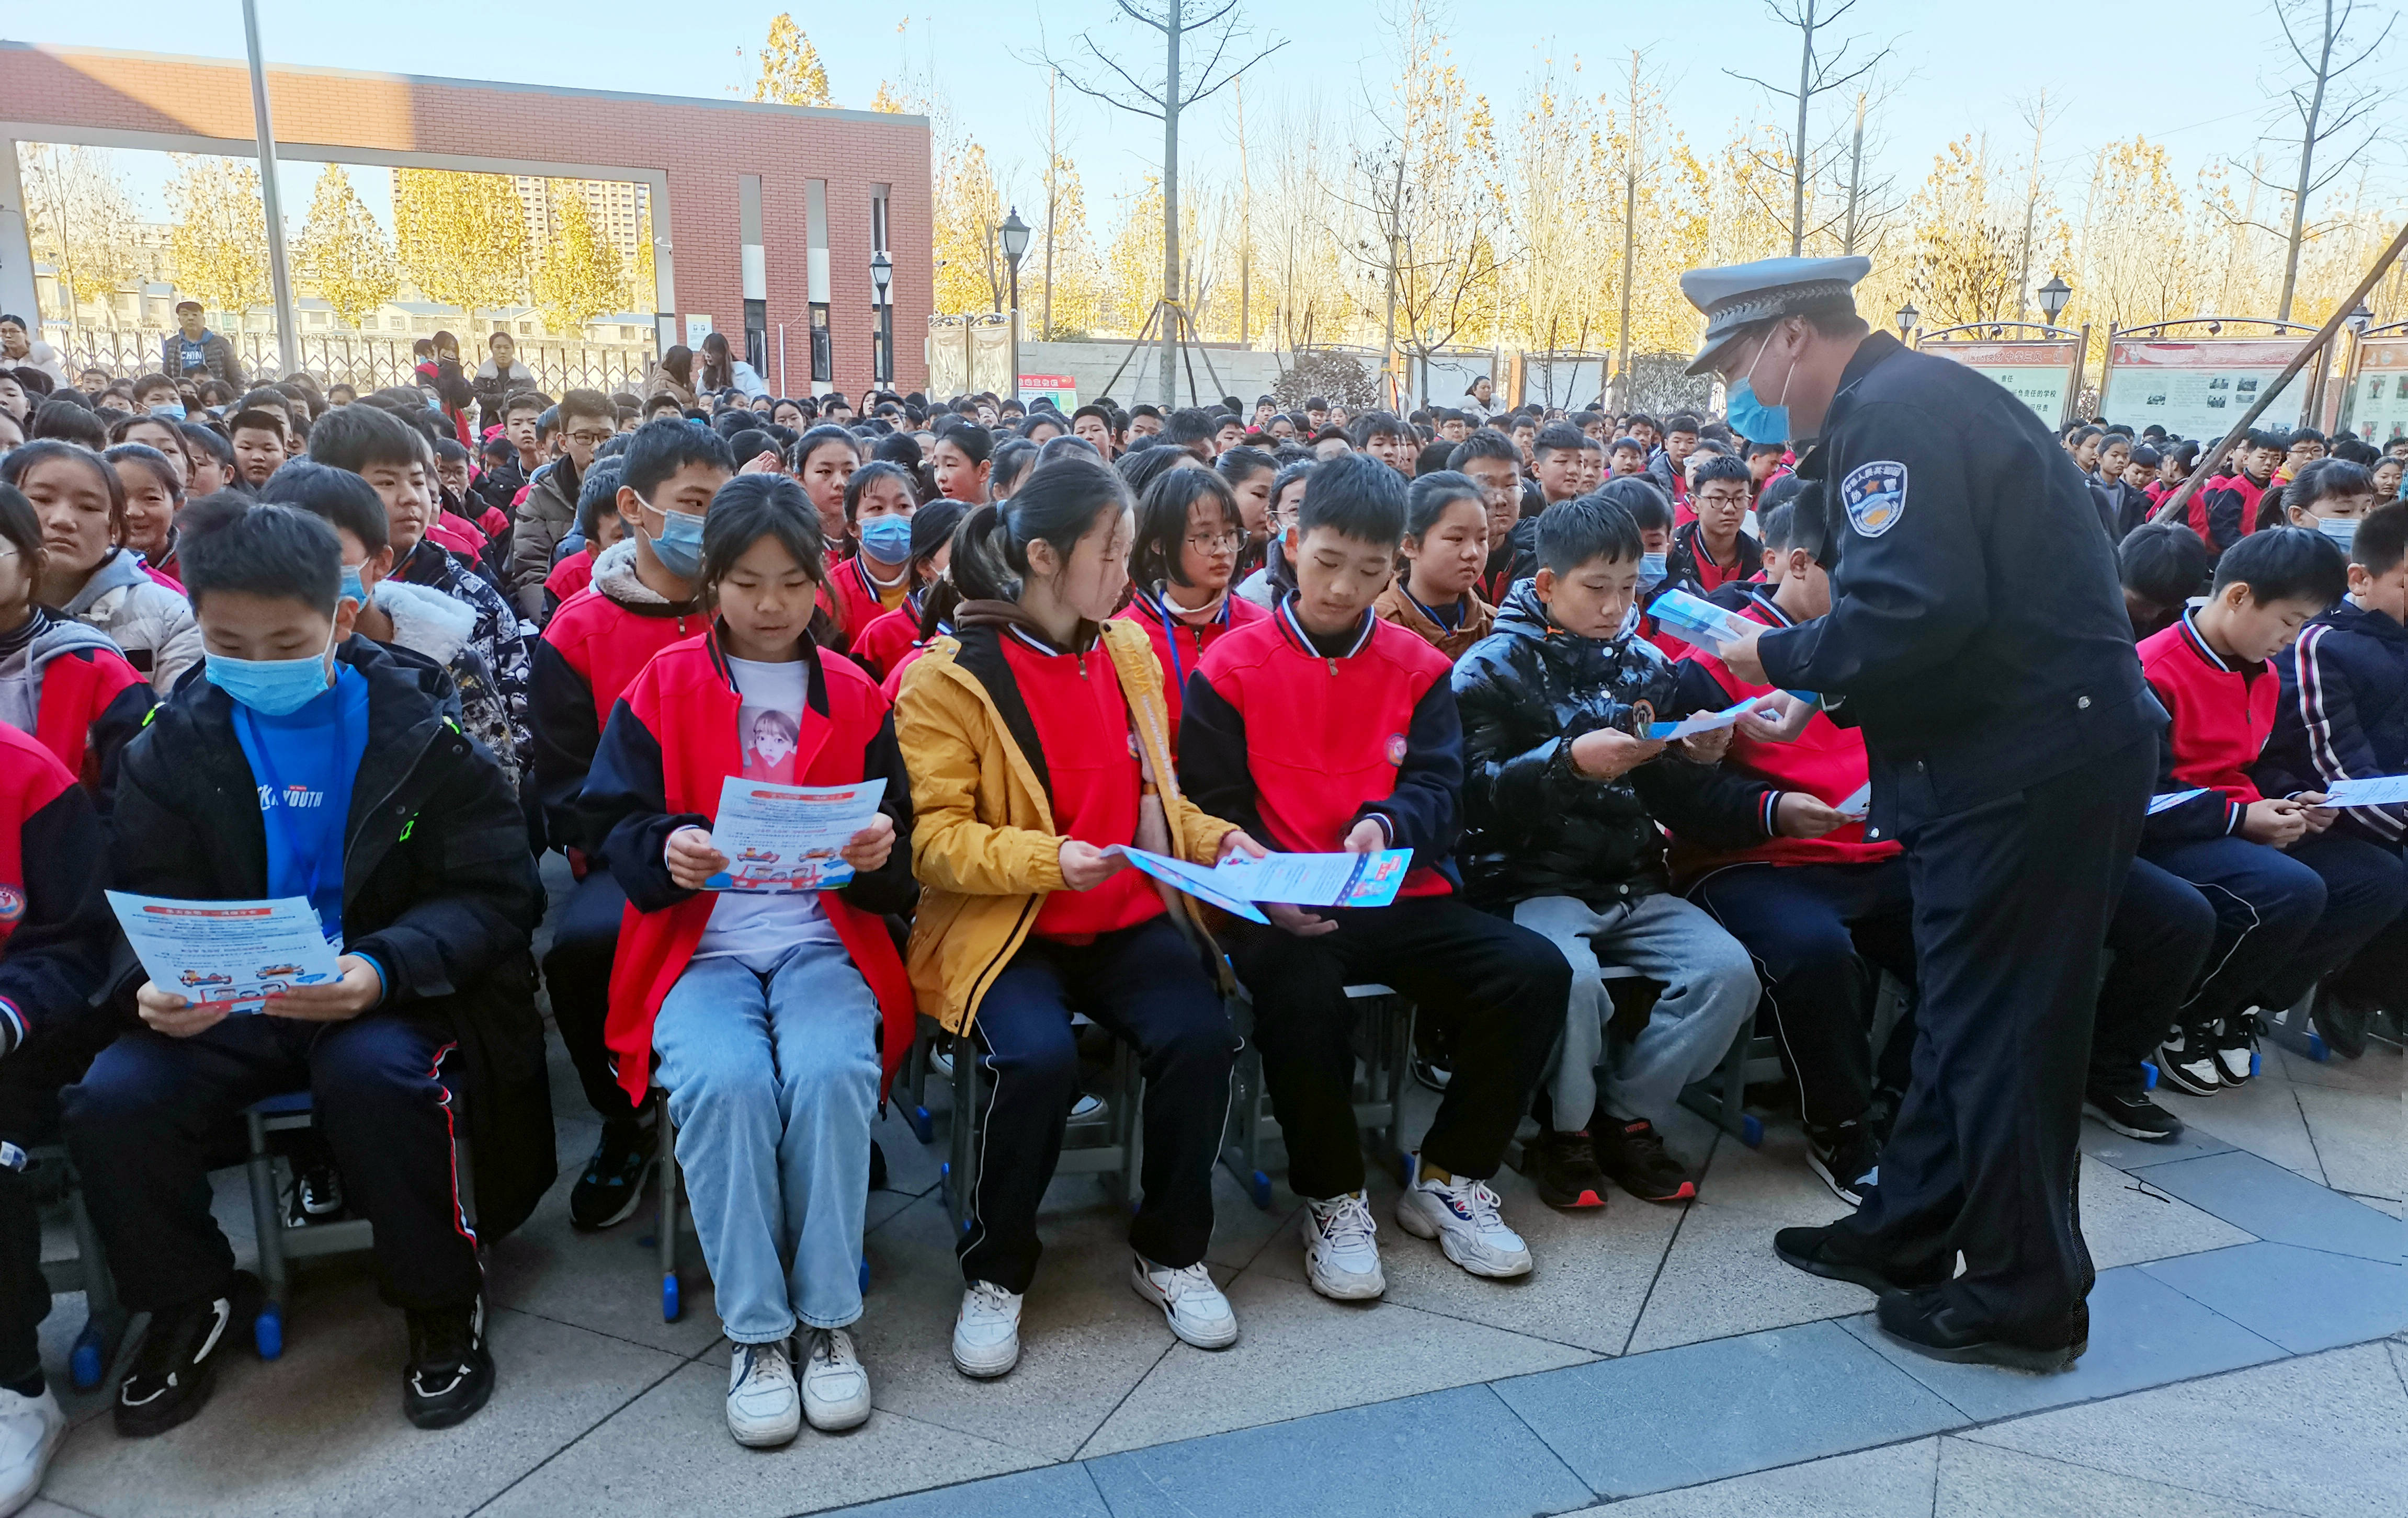
[[[1507,1162],[1575,1212],[1693,1198],[1666,1123],[1748,1030],[1777,1042],[1813,1174],[1847,1205],[1878,1184],[1914,953],[1864,741],[1654,613],[1830,609],[1847,529],[1780,445],[1486,399],[1062,419],[662,385],[496,390],[477,452],[414,392],[265,390],[231,440],[197,428],[222,452],[154,416],[70,440],[70,416],[0,457],[0,1455],[22,1453],[0,1511],[63,1429],[22,1150],[67,1143],[149,1314],[116,1427],[157,1434],[260,1306],[205,1172],[291,1090],[315,1128],[289,1222],[376,1225],[405,1415],[474,1415],[479,1251],[556,1172],[537,986],[600,1119],[571,1222],[631,1217],[674,1131],[751,1446],[872,1415],[869,1133],[915,1015],[987,1090],[968,1376],[1014,1369],[1043,1289],[1074,1015],[1144,1078],[1132,1289],[1206,1350],[1240,1333],[1204,1268],[1240,989],[1305,1277],[1334,1299],[1385,1292],[1356,982],[1413,1003],[1440,1085],[1389,1217],[1471,1275],[1534,1268]],[[2302,998],[2355,1056],[2408,984],[2408,808],[2324,804],[2408,770],[2408,505],[2357,452],[2251,435],[2150,522],[2194,455],[2068,433],[2172,717],[2093,1030],[2085,1107],[2119,1133],[2179,1133],[2146,1061],[2189,1095],[2242,1085],[2259,1015]],[[730,777],[884,782],[852,878],[713,890]],[[1409,866],[1392,905],[1255,924],[1125,849]],[[568,883],[537,967],[544,854]],[[104,885],[306,897],[342,974],[229,1015],[149,984]],[[1883,977],[1900,1015],[1876,1027]]]

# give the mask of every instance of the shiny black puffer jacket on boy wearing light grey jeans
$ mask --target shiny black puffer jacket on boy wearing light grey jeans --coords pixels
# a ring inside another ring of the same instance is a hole
[[[1705,847],[1760,844],[1763,784],[1676,748],[1616,779],[1572,770],[1572,739],[1630,731],[1635,702],[1674,712],[1674,674],[1640,638],[1601,642],[1558,630],[1524,580],[1495,630],[1454,664],[1464,722],[1464,895],[1510,907],[1539,895],[1589,905],[1669,890],[1664,818]]]

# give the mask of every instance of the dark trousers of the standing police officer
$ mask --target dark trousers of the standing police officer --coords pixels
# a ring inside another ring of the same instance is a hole
[[[1840,1227],[1900,1277],[2020,1338],[2068,1326],[2095,1277],[2076,1203],[2100,948],[2150,787],[2150,741],[1907,828],[1914,1080],[1881,1184]]]

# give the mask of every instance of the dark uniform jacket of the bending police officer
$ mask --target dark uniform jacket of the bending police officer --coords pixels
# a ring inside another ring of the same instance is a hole
[[[1905,472],[1905,500],[1857,524],[1849,484],[1873,464]],[[1832,609],[1767,633],[1760,654],[1775,686],[1842,700],[1864,731],[1869,837],[1996,801],[2165,722],[2090,486],[1994,380],[1876,332],[1799,474],[1825,481]]]

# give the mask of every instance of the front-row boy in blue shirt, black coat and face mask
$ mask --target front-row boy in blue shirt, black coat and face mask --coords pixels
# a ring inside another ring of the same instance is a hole
[[[523,1222],[554,1169],[525,823],[491,755],[443,717],[445,676],[352,638],[332,527],[209,500],[185,512],[181,563],[207,678],[125,751],[111,878],[157,897],[308,897],[342,979],[229,1015],[120,955],[113,996],[142,1025],[65,1092],[108,1268],[125,1306],[152,1314],[118,1431],[200,1412],[248,1330],[260,1285],[209,1217],[207,1135],[291,1090],[315,1097],[376,1227],[378,1285],[409,1316],[402,1410],[450,1427],[494,1390],[477,1244]]]

